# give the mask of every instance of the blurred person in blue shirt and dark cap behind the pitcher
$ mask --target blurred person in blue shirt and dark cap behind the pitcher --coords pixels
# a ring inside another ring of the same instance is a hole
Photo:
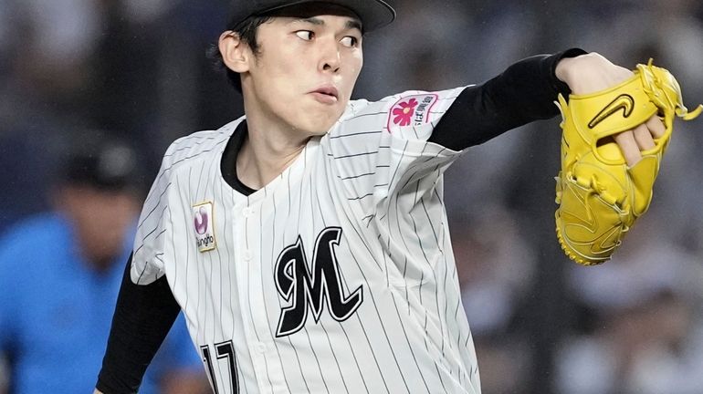
[[[135,159],[134,150],[112,142],[71,155],[54,188],[54,211],[0,238],[0,354],[8,361],[10,393],[95,386],[141,205]],[[207,389],[179,317],[140,392]]]

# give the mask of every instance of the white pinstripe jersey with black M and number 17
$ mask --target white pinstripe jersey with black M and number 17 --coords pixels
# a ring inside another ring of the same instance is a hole
[[[462,88],[350,102],[250,195],[220,171],[238,119],[175,141],[131,279],[166,275],[216,393],[479,393],[426,140]]]

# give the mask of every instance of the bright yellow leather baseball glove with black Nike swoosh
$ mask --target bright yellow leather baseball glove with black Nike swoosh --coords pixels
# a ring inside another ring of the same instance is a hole
[[[557,238],[573,261],[601,264],[649,207],[674,119],[695,119],[703,106],[688,112],[677,80],[666,69],[652,66],[651,60],[637,65],[635,76],[614,88],[571,95],[568,103],[560,95],[558,104],[563,122]],[[629,167],[612,136],[635,129],[655,114],[666,132]]]

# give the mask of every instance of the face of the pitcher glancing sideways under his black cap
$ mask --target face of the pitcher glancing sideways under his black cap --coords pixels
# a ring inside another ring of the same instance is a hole
[[[351,13],[274,17],[258,27],[259,53],[242,74],[247,117],[322,135],[344,112],[362,69],[362,31]]]

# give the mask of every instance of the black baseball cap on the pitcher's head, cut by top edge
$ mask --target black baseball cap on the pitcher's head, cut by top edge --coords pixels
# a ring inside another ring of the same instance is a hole
[[[234,0],[230,26],[239,25],[249,16],[264,15],[306,3],[329,3],[349,8],[362,20],[366,32],[389,25],[395,19],[395,10],[383,0]]]

